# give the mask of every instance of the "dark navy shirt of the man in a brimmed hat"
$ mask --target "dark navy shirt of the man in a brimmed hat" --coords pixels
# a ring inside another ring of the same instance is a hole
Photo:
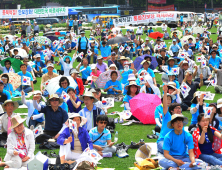
[[[54,112],[51,106],[41,106],[40,113],[45,114],[45,130],[46,131],[60,131],[68,119],[67,112],[58,107],[58,110]]]

